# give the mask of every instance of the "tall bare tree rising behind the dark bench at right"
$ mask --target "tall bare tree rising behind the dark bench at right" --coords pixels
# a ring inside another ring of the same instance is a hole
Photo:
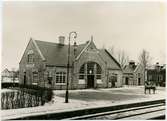
[[[139,62],[143,66],[144,82],[145,82],[145,77],[146,77],[146,75],[145,75],[146,68],[148,67],[148,65],[150,63],[150,60],[151,60],[151,57],[149,55],[149,52],[146,51],[145,49],[143,49],[141,54],[139,55]]]

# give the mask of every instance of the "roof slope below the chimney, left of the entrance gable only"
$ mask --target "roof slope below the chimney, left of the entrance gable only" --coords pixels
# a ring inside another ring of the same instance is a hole
[[[68,45],[60,45],[59,43],[45,42],[35,40],[42,55],[46,59],[47,65],[66,66],[68,58]],[[77,45],[76,56],[82,51],[87,43]],[[74,46],[71,45],[71,60],[74,59]],[[72,61],[70,61],[72,62]]]

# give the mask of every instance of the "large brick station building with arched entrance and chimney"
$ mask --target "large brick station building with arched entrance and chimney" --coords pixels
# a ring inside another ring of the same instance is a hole
[[[53,89],[65,89],[68,45],[30,39],[19,63],[20,83]],[[122,86],[120,64],[106,50],[98,49],[91,39],[70,46],[69,89],[110,88]]]

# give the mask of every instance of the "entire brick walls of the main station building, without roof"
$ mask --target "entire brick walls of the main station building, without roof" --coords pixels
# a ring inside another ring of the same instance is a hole
[[[34,62],[28,63],[28,54],[33,52]],[[94,75],[94,86],[93,88],[110,88],[110,87],[121,87],[122,86],[122,71],[108,69],[105,60],[100,56],[94,43],[90,43],[89,47],[79,56],[79,58],[72,62],[69,74],[69,89],[85,89],[88,88],[88,76],[85,75],[83,80],[79,79],[79,71],[82,65],[85,64],[85,72],[87,73],[86,64],[88,62],[94,62],[100,65],[101,68],[101,79],[96,79],[97,75]],[[96,65],[97,66],[97,65]],[[95,66],[95,71],[96,67]],[[43,87],[49,87],[52,89],[66,89],[67,81],[67,68],[58,67],[56,65],[46,65],[46,62],[42,60],[34,42],[31,40],[23,54],[23,57],[19,64],[20,68],[20,83],[22,84],[34,84],[33,72],[37,72],[38,81],[37,85]],[[26,82],[24,82],[24,72],[26,72]],[[57,73],[65,73],[65,83],[57,83]],[[96,73],[96,72],[94,72]],[[116,81],[111,77],[116,75]],[[114,86],[113,86],[114,85]]]

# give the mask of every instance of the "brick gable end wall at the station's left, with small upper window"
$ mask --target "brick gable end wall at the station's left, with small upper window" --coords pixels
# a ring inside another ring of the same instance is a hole
[[[28,63],[28,54],[29,52],[33,52],[34,54],[34,62]],[[32,84],[33,83],[33,72],[38,72],[38,84],[40,86],[44,85],[44,70],[45,70],[45,62],[43,62],[40,57],[34,43],[32,40],[27,45],[27,48],[22,56],[22,59],[19,63],[19,81],[21,84]],[[24,82],[24,74],[26,72],[26,80]]]

